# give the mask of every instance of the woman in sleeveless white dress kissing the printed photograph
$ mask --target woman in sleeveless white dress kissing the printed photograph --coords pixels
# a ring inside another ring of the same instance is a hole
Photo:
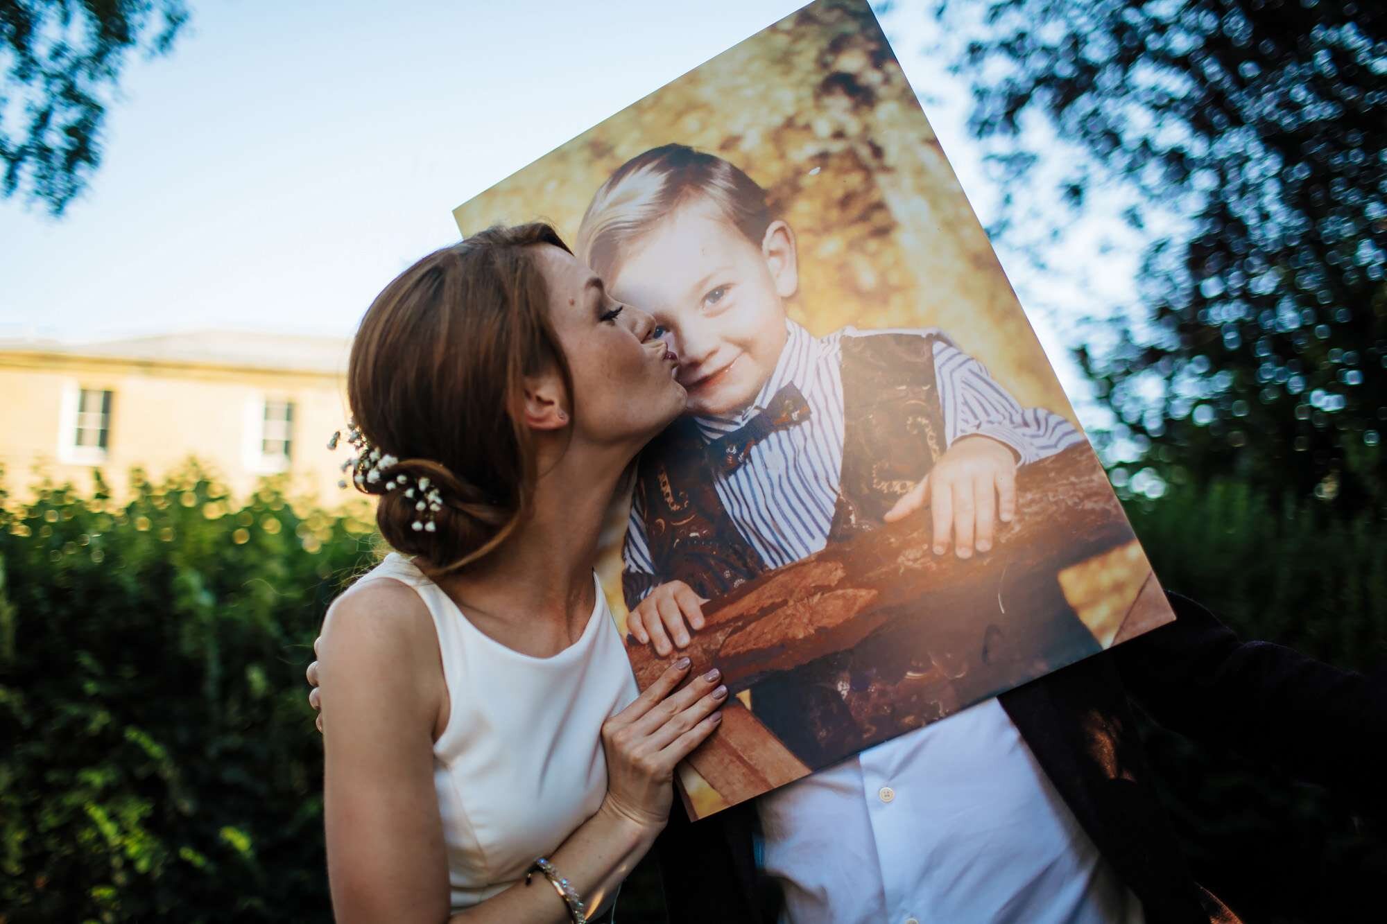
[[[727,688],[680,688],[685,659],[637,696],[592,572],[684,409],[655,333],[545,225],[426,257],[362,319],[354,481],[397,552],[320,640],[337,920],[583,920],[664,825]]]

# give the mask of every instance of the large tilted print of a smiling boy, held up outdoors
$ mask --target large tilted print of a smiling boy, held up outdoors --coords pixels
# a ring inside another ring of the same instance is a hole
[[[736,694],[682,769],[692,817],[1173,619],[867,3],[804,7],[455,218],[551,221],[678,357],[603,584],[642,688],[688,655]]]

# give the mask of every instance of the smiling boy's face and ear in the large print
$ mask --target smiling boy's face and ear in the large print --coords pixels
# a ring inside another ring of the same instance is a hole
[[[781,300],[799,286],[795,236],[773,222],[752,243],[699,197],[630,246],[609,282],[613,297],[669,332],[688,412],[727,415],[756,398],[785,347]]]

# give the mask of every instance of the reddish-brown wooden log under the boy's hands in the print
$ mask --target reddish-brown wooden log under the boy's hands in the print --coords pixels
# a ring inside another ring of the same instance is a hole
[[[681,655],[694,670],[717,666],[742,690],[759,677],[853,648],[893,619],[974,606],[990,588],[1001,609],[1043,580],[1132,541],[1130,526],[1093,452],[1074,447],[1017,473],[1017,516],[999,523],[990,554],[935,555],[929,511],[829,545],[763,574],[703,610],[688,648],[660,658],[632,645],[644,690]]]

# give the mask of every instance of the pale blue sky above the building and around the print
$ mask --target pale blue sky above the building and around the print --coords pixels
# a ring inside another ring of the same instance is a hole
[[[455,241],[451,209],[802,6],[193,0],[172,55],[135,57],[104,160],[61,218],[0,200],[0,339],[248,329],[347,336],[395,273]],[[882,21],[983,223],[997,190],[922,0]],[[1036,128],[1032,130],[1043,130]],[[1139,250],[1075,272],[999,248],[1076,404],[1071,320],[1123,300]]]

